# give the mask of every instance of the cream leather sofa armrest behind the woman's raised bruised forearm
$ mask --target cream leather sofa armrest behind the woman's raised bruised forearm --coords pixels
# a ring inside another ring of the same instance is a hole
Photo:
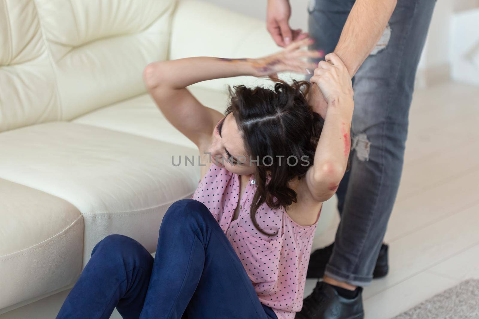
[[[264,4],[266,5],[266,4]],[[169,59],[191,56],[256,58],[280,51],[266,23],[208,2],[181,0],[173,15]],[[283,80],[303,79],[304,75],[283,72]],[[267,78],[229,77],[197,83],[194,86],[225,90],[226,85],[271,86]]]

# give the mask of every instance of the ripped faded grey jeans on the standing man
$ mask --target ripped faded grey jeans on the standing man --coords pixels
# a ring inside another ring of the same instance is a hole
[[[312,49],[334,50],[354,0],[310,0]],[[337,190],[341,222],[325,274],[368,286],[402,172],[414,77],[435,0],[398,0],[353,78],[351,169]],[[367,30],[364,30],[367,32]]]

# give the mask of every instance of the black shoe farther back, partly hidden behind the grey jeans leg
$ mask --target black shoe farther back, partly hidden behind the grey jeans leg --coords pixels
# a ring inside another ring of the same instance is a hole
[[[309,258],[308,272],[306,273],[306,278],[322,278],[324,275],[324,269],[326,264],[328,264],[329,259],[332,254],[334,247],[334,242],[324,248],[315,250],[311,257]],[[382,278],[388,275],[389,265],[388,265],[388,245],[382,244],[377,256],[376,266],[373,272],[373,278]]]

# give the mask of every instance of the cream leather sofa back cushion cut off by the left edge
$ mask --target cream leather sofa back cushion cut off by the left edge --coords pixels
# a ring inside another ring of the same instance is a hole
[[[0,1],[0,132],[60,120],[61,110],[33,1]]]

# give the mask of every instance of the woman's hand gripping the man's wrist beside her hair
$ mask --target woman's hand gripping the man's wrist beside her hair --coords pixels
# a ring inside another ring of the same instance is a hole
[[[319,62],[310,82],[318,85],[328,105],[343,97],[352,98],[351,76],[342,60],[335,53],[326,55],[325,59]]]

